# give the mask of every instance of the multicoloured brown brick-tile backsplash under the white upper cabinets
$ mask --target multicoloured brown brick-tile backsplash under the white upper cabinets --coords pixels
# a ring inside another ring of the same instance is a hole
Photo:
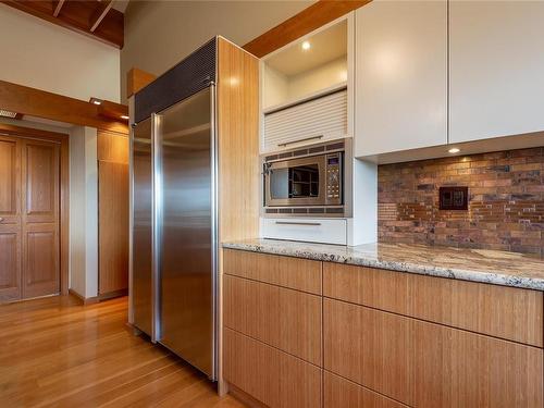
[[[544,256],[544,147],[380,165],[379,240]],[[468,211],[441,211],[468,186]]]

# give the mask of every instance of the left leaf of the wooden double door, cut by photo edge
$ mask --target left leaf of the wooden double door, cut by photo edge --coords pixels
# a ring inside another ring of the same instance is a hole
[[[0,301],[21,298],[21,143],[0,136]]]

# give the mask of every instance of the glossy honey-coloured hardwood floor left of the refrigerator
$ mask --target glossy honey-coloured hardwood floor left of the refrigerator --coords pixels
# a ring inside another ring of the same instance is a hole
[[[133,335],[127,298],[59,296],[0,306],[1,407],[244,407]]]

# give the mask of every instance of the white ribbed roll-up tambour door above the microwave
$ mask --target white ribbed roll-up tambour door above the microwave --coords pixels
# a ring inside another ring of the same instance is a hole
[[[265,113],[263,152],[347,136],[347,90]]]

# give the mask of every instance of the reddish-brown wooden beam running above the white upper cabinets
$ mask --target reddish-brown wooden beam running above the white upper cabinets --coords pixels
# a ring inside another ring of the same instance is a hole
[[[252,39],[243,48],[262,58],[372,0],[320,0]]]

